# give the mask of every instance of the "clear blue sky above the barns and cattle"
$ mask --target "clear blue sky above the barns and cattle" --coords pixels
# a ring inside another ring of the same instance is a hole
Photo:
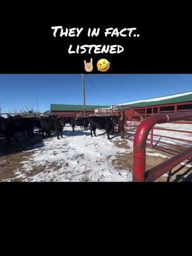
[[[86,74],[85,88],[88,105],[121,104],[191,91],[192,74]],[[26,106],[43,112],[51,103],[83,104],[81,74],[0,75],[2,113]]]

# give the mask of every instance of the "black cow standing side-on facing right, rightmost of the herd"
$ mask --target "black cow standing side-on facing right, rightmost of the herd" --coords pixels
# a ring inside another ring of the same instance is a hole
[[[115,116],[90,116],[88,117],[88,122],[90,122],[90,130],[91,130],[91,136],[92,131],[94,132],[94,135],[96,136],[96,128],[98,129],[105,129],[108,134],[108,140],[109,138],[109,132],[114,129],[115,126]]]

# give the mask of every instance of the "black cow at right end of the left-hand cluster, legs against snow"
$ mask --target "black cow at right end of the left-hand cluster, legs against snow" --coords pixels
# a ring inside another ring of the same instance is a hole
[[[65,119],[58,116],[49,116],[49,117],[43,117],[40,118],[40,124],[42,128],[42,137],[45,138],[44,132],[46,133],[46,136],[51,136],[51,131],[56,131],[58,140],[63,138],[62,132],[63,127],[65,126]]]

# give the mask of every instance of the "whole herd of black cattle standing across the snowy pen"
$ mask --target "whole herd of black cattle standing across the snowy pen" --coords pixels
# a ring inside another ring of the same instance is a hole
[[[16,133],[21,132],[25,135],[28,133],[28,140],[34,137],[35,127],[42,132],[42,138],[45,136],[51,136],[52,131],[56,131],[58,139],[63,138],[63,127],[65,124],[70,124],[72,131],[76,125],[84,128],[84,131],[88,131],[88,125],[90,124],[90,132],[96,136],[96,129],[105,129],[108,134],[112,134],[115,131],[115,127],[118,124],[118,116],[89,116],[89,117],[78,117],[78,118],[65,118],[56,115],[46,116],[46,117],[31,117],[26,118],[22,116],[10,116],[9,118],[4,118],[0,116],[0,136],[6,136],[7,143],[10,143],[11,138],[18,142]]]

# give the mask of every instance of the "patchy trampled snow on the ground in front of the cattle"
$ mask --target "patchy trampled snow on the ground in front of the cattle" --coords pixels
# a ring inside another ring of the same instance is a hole
[[[91,138],[90,131],[84,132],[78,127],[75,132],[71,130],[71,127],[65,127],[64,138],[49,138],[44,140],[44,147],[31,150],[33,154],[22,161],[21,169],[15,170],[14,179],[34,182],[132,180],[131,172],[116,170],[112,165],[116,154],[129,152],[113,143],[115,140],[120,141],[120,137],[108,140],[104,131],[97,129],[97,137]]]

